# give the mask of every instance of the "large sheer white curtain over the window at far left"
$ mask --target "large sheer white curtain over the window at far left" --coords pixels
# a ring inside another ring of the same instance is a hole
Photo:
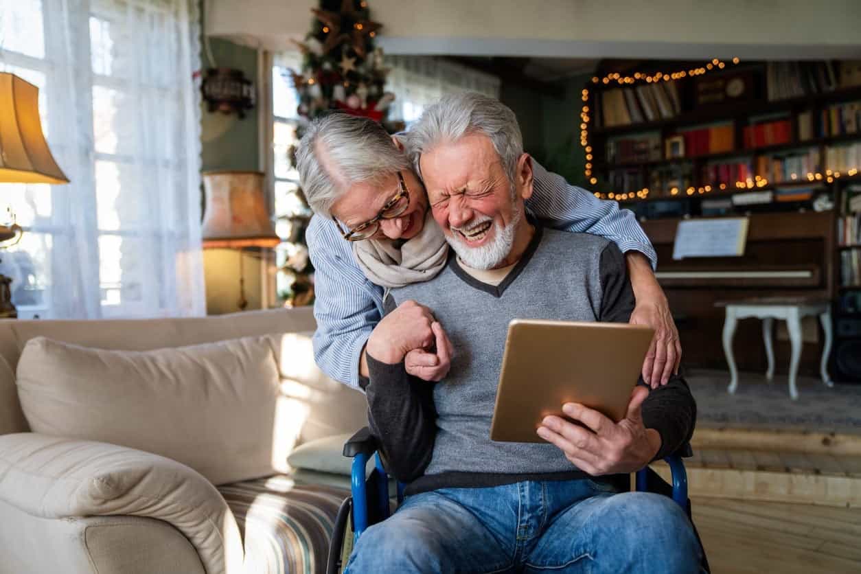
[[[0,183],[21,317],[202,315],[196,0],[0,0],[0,69],[40,88],[71,183]]]

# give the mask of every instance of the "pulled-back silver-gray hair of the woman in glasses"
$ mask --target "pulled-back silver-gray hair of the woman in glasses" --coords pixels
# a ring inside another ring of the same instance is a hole
[[[349,114],[313,120],[296,150],[296,168],[308,205],[325,217],[331,216],[332,204],[351,185],[376,185],[409,167],[406,153],[394,145],[384,127]]]

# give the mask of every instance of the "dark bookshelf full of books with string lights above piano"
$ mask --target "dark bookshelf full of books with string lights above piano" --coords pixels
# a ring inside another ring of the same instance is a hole
[[[809,208],[818,194],[833,195],[839,176],[861,169],[858,62],[753,62],[670,82],[587,87],[593,188],[644,219],[716,214],[713,198],[751,191],[771,193],[730,199],[725,211]],[[684,205],[648,207],[653,201]]]

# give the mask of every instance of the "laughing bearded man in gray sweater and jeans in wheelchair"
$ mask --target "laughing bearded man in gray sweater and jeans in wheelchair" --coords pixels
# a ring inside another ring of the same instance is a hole
[[[391,289],[369,337],[369,421],[407,497],[362,534],[347,571],[699,571],[678,505],[623,492],[625,473],[691,437],[696,405],[677,376],[638,386],[619,423],[565,404],[581,424],[547,417],[537,429],[547,443],[489,438],[512,318],[627,321],[634,308],[615,244],[527,215],[534,179],[519,141],[511,110],[472,94],[444,98],[409,136],[456,256],[430,281]],[[443,355],[457,349],[433,386],[404,364],[431,340]]]

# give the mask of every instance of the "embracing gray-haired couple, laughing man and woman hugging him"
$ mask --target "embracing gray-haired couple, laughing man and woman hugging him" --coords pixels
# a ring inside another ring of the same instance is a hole
[[[630,213],[543,170],[511,110],[471,93],[395,138],[331,114],[297,159],[315,212],[317,361],[366,392],[388,470],[407,485],[347,571],[699,571],[678,505],[628,492],[628,473],[681,447],[696,418]],[[619,423],[565,404],[571,420],[537,429],[545,442],[491,441],[513,318],[649,324],[649,384]]]

